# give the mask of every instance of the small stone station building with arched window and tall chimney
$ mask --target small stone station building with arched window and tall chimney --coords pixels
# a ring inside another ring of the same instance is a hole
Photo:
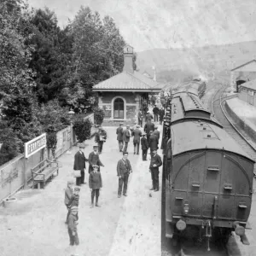
[[[149,94],[157,94],[162,84],[133,70],[133,48],[124,47],[124,68],[110,79],[93,86],[99,96],[99,108],[105,113],[102,125],[118,126],[120,122],[125,125],[134,125],[137,113],[148,100]]]

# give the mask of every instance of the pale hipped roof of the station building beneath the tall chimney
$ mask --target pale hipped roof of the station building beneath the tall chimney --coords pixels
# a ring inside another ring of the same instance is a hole
[[[164,85],[148,79],[142,73],[122,72],[110,79],[95,84],[92,88],[94,91],[160,91]]]

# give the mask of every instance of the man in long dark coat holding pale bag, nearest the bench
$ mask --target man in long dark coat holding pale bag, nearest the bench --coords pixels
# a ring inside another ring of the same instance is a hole
[[[74,155],[74,164],[73,164],[73,170],[80,170],[81,171],[81,177],[77,177],[76,178],[76,185],[80,186],[81,184],[85,184],[84,183],[84,169],[85,168],[85,161],[88,161],[88,159],[86,159],[86,157],[84,156],[84,150],[85,145],[84,144],[80,144],[79,145],[79,152],[77,152]]]

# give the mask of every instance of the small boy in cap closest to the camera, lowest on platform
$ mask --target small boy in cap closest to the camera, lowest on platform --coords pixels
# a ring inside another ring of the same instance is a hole
[[[79,207],[71,207],[71,213],[68,216],[67,219],[67,231],[69,236],[69,245],[73,246],[79,245],[79,235],[78,235],[78,212]]]

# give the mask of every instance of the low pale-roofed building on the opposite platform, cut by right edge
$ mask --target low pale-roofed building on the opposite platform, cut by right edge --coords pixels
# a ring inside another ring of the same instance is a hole
[[[256,107],[256,79],[241,84],[238,97],[241,101]]]

